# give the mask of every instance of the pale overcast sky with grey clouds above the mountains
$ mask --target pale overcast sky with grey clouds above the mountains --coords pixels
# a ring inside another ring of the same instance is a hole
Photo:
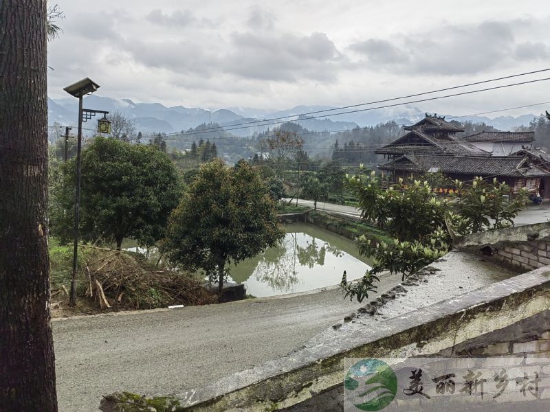
[[[88,76],[98,95],[167,106],[340,106],[550,67],[543,0],[57,2],[52,98]],[[549,92],[547,81],[416,106],[469,114]]]

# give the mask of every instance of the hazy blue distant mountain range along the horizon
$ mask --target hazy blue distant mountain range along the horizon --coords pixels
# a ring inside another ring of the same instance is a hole
[[[399,106],[376,111],[362,111],[347,113],[344,115],[311,118],[322,116],[324,113],[302,115],[303,113],[327,111],[331,106],[296,106],[283,111],[262,111],[254,108],[231,108],[208,111],[203,108],[187,108],[184,106],[166,107],[159,103],[135,103],[129,99],[115,100],[113,98],[89,95],[84,100],[85,108],[94,108],[105,111],[122,111],[133,118],[137,130],[142,133],[175,133],[181,130],[195,128],[199,124],[217,123],[226,128],[235,124],[254,122],[261,119],[281,118],[277,122],[294,121],[314,131],[329,131],[351,129],[356,126],[374,126],[382,122],[395,120],[398,124],[416,122],[424,116],[419,108]],[[62,126],[74,126],[78,118],[78,102],[74,98],[52,100],[48,98],[48,124],[54,123]],[[500,116],[489,117],[471,116],[461,117],[457,120],[463,122],[470,120],[474,123],[485,122],[500,130],[510,130],[516,126],[527,125],[535,115],[522,115],[519,117]],[[452,117],[451,115],[449,117]],[[250,136],[254,132],[265,131],[268,127],[276,127],[277,124],[254,126],[230,130],[238,136]]]

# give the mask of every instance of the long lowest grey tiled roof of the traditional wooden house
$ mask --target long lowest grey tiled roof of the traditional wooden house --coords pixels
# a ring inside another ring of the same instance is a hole
[[[476,176],[550,176],[550,172],[529,165],[527,158],[521,156],[404,155],[380,165],[381,170],[408,172],[427,172],[432,168],[437,168],[443,173]]]

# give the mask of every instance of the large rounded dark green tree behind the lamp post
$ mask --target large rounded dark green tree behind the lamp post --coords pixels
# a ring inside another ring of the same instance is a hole
[[[63,183],[54,198],[54,233],[72,233],[74,159],[61,165]],[[151,245],[164,236],[166,221],[181,196],[179,175],[154,146],[96,137],[82,153],[80,233],[86,240],[124,238]]]

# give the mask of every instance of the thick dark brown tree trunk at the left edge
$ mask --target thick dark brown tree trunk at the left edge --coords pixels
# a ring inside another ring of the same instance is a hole
[[[55,412],[46,1],[0,4],[0,411]]]

